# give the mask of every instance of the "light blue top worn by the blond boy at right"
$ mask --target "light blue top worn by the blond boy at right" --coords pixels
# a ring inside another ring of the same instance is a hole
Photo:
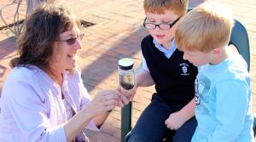
[[[192,142],[253,142],[251,94],[241,55],[230,53],[218,65],[199,67],[195,81],[198,126]]]

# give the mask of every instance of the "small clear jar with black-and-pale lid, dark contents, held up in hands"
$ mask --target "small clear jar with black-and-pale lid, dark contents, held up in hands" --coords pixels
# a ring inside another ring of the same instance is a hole
[[[119,85],[126,90],[134,87],[133,60],[123,58],[119,60]]]

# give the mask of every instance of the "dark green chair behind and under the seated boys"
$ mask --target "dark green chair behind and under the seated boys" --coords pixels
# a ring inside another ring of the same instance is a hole
[[[189,9],[190,10],[190,9]],[[250,47],[246,28],[235,20],[235,26],[232,29],[230,43],[236,47],[237,51],[247,62],[247,70],[250,70]],[[132,103],[125,105],[121,111],[121,142],[124,141],[125,135],[131,131],[131,108]],[[254,137],[256,134],[256,117],[253,122]]]

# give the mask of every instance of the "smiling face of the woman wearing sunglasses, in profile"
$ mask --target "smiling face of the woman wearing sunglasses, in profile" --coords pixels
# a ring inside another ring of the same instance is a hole
[[[58,71],[74,68],[78,50],[81,49],[81,38],[82,33],[76,25],[71,30],[62,32],[53,45],[50,68]]]

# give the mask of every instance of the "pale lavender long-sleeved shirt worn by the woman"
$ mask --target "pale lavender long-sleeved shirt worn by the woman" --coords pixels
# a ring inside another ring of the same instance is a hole
[[[3,84],[0,106],[0,141],[66,142],[67,122],[61,92],[74,112],[90,103],[79,68],[74,74],[62,72],[60,86],[35,65],[15,67]],[[94,122],[88,128],[97,129]]]

